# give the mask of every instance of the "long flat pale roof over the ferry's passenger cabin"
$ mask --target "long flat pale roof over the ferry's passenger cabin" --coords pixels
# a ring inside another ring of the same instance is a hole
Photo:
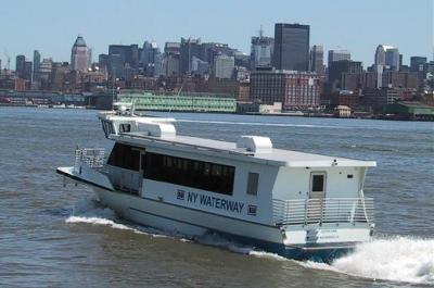
[[[196,150],[201,153],[220,153],[221,156],[237,156],[242,161],[289,167],[331,167],[331,166],[375,166],[374,161],[361,161],[346,158],[311,154],[291,150],[271,148],[268,151],[251,152],[237,148],[235,142],[219,141],[191,136],[176,135],[169,138],[149,136],[144,133],[125,133],[112,136],[114,140],[132,142],[135,145],[154,146],[166,149]]]

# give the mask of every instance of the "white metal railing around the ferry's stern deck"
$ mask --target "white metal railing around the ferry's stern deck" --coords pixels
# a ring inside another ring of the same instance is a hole
[[[372,198],[272,200],[277,225],[373,222]]]

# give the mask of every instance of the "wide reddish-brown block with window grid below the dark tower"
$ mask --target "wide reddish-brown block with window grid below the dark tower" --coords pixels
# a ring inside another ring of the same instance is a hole
[[[255,71],[251,73],[250,98],[263,104],[282,102],[283,110],[317,108],[321,77],[296,71]]]

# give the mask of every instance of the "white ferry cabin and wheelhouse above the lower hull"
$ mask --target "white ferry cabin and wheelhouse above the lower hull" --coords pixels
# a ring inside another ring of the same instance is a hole
[[[267,137],[226,142],[176,135],[174,120],[100,113],[106,162],[123,192],[266,225],[370,223],[375,162],[288,151]]]

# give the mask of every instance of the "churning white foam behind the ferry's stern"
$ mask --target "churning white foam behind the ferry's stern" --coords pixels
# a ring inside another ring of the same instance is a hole
[[[372,279],[431,285],[434,284],[434,239],[375,239],[359,245],[331,265],[314,262],[304,265]]]

